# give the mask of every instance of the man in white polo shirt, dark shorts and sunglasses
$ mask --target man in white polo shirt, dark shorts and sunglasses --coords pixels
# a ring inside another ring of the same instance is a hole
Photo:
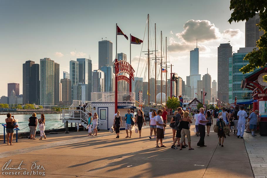
[[[161,117],[163,111],[161,109],[158,110],[157,112],[157,116],[156,116],[156,125],[157,125],[157,130],[156,130],[156,134],[157,134],[157,139],[156,139],[156,143],[157,143],[157,148],[159,148],[158,146],[158,140],[160,140],[160,147],[166,147],[163,145],[162,143],[162,139],[164,138],[164,131],[163,131],[163,127],[166,127],[166,124],[163,123],[163,118]]]

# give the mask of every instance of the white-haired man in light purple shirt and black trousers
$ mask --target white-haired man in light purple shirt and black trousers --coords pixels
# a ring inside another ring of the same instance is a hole
[[[207,124],[207,122],[209,122],[209,120],[206,120],[205,115],[204,115],[204,108],[200,108],[200,113],[198,115],[198,129],[199,129],[199,135],[200,135],[200,139],[197,143],[197,146],[199,147],[206,147],[207,145],[205,145],[205,125]]]

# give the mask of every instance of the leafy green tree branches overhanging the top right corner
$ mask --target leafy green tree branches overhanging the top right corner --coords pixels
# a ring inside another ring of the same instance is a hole
[[[266,0],[231,0],[230,10],[233,10],[231,18],[228,20],[231,22],[239,22],[249,20],[255,16],[256,12],[259,12],[260,23],[257,24],[259,30],[264,34],[256,42],[256,48],[248,53],[244,60],[249,61],[249,64],[242,67],[240,71],[245,74],[253,72],[256,68],[264,67],[267,63],[267,1]],[[258,48],[258,50],[257,50]],[[265,82],[267,82],[267,75],[263,76]]]

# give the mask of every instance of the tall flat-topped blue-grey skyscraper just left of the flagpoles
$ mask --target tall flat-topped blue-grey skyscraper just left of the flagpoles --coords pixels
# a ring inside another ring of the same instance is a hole
[[[102,40],[98,42],[98,69],[102,66],[112,66],[112,42]]]

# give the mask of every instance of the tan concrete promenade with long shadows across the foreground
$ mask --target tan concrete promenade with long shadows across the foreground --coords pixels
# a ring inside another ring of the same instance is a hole
[[[265,155],[265,158],[261,158],[258,162],[258,153],[252,150],[257,144],[255,140],[252,140],[256,139],[254,137],[250,138],[247,135],[244,137],[246,145],[250,145],[251,149],[248,152],[251,156],[248,156],[244,140],[237,139],[231,133],[231,136],[225,139],[224,147],[219,146],[217,133],[214,132],[210,132],[210,136],[205,137],[207,147],[197,147],[199,137],[193,132],[195,126],[191,125],[191,145],[195,150],[188,150],[188,147],[183,150],[174,150],[170,148],[172,130],[168,126],[166,128],[163,140],[166,148],[156,148],[156,139],[148,138],[150,131],[147,126],[142,129],[141,139],[134,132],[133,138],[124,138],[126,133],[121,131],[120,138],[115,139],[116,134],[107,131],[100,131],[96,137],[89,137],[86,131],[82,131],[70,134],[50,134],[47,135],[46,140],[38,140],[39,137],[37,140],[19,139],[18,143],[14,142],[12,146],[1,143],[0,167],[6,168],[6,162],[12,159],[7,168],[11,166],[18,168],[23,161],[20,167],[24,169],[3,171],[1,169],[0,177],[252,178],[254,177],[253,171],[261,172],[258,169],[265,166],[260,162],[266,161],[266,150],[260,151],[264,153],[262,156]],[[260,137],[258,135],[257,139]],[[264,147],[264,145],[261,146]],[[253,171],[250,161],[253,161]],[[45,176],[37,176],[37,171],[38,174],[44,172]],[[20,172],[20,175],[3,175],[6,172]],[[29,172],[29,175],[21,175],[24,172]],[[266,176],[259,172],[255,174],[255,177]]]

